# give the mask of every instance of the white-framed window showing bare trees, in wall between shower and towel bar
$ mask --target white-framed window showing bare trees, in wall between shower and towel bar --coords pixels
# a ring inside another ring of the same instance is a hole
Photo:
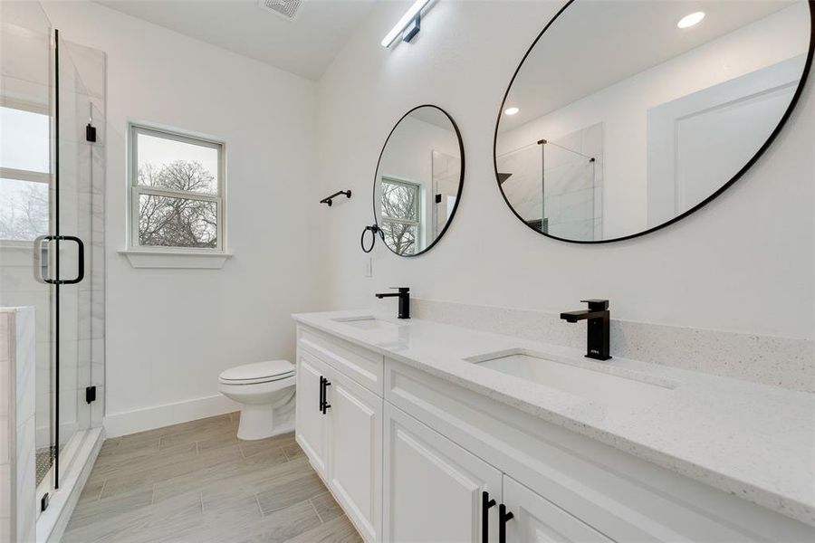
[[[130,125],[130,247],[224,251],[224,144]]]

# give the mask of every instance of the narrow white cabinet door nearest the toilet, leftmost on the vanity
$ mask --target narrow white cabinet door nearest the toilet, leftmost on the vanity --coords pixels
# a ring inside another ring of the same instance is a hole
[[[298,349],[297,353],[297,443],[312,462],[314,470],[326,478],[326,441],[328,416],[322,414],[321,377],[328,367],[320,360]]]

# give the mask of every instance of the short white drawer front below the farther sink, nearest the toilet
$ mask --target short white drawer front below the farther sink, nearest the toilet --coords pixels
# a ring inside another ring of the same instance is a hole
[[[308,350],[313,356],[349,376],[375,395],[382,396],[382,374],[384,357],[368,349],[324,334],[319,330],[298,327],[299,348]]]

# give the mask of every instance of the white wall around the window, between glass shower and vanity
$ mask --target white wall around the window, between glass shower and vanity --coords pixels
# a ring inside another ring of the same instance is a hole
[[[317,306],[315,85],[90,2],[44,4],[65,39],[108,54],[107,418],[110,433],[215,414],[227,367],[293,360],[290,313]],[[125,248],[129,119],[223,138],[221,270],[133,269]],[[162,405],[174,405],[161,407]],[[140,411],[146,410],[146,411]]]

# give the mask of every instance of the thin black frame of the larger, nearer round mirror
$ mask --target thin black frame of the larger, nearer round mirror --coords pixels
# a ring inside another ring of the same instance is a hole
[[[521,62],[518,64],[518,67],[515,68],[515,71],[513,72],[513,78],[510,80],[509,85],[507,85],[507,87],[506,87],[506,92],[503,93],[503,100],[501,100],[501,107],[498,109],[498,118],[495,121],[495,133],[494,133],[494,137],[493,137],[493,166],[494,166],[494,170],[495,170],[495,181],[498,184],[498,190],[501,191],[501,195],[503,196],[503,201],[506,203],[507,207],[509,207],[510,211],[512,211],[513,214],[516,217],[518,217],[518,220],[521,221],[523,224],[525,224],[527,228],[532,230],[532,232],[536,232],[536,233],[539,233],[539,234],[541,234],[543,236],[551,238],[553,240],[558,240],[560,242],[566,242],[566,243],[581,243],[581,244],[587,244],[588,245],[588,244],[599,244],[599,243],[622,242],[624,240],[630,240],[632,238],[636,238],[636,237],[639,237],[641,235],[646,235],[647,233],[657,232],[657,230],[661,230],[661,229],[665,228],[666,226],[670,226],[671,224],[674,224],[674,223],[676,223],[678,221],[681,221],[686,216],[688,216],[690,214],[693,214],[695,211],[698,211],[699,209],[703,208],[705,205],[712,202],[718,195],[721,195],[725,190],[727,190],[730,186],[732,186],[733,183],[738,181],[738,179],[741,176],[743,176],[744,173],[747,170],[749,170],[751,167],[753,167],[753,164],[755,164],[760,157],[762,157],[762,155],[764,154],[764,151],[766,151],[767,148],[769,148],[772,145],[773,140],[779,135],[779,133],[781,132],[781,129],[783,129],[784,125],[786,124],[787,119],[790,118],[790,116],[792,114],[792,111],[795,110],[795,106],[798,104],[799,98],[801,98],[801,92],[803,91],[804,84],[806,83],[807,78],[808,78],[808,76],[810,74],[810,66],[812,64],[813,49],[815,49],[815,0],[807,0],[807,5],[809,5],[809,7],[810,7],[810,45],[809,45],[809,51],[807,52],[807,60],[804,63],[803,71],[801,71],[801,81],[799,81],[798,88],[795,90],[795,93],[792,95],[792,100],[790,100],[790,105],[787,107],[787,110],[784,111],[784,114],[781,116],[781,119],[779,120],[778,125],[775,127],[775,129],[772,130],[772,133],[770,134],[770,136],[763,143],[762,147],[759,148],[758,151],[756,151],[755,155],[753,155],[753,157],[750,160],[748,160],[747,163],[744,164],[744,166],[738,172],[736,172],[735,175],[733,177],[731,177],[731,179],[727,183],[725,183],[723,186],[720,186],[718,189],[716,189],[716,191],[713,194],[709,195],[708,197],[705,198],[705,200],[703,200],[702,202],[696,204],[692,208],[688,209],[686,212],[676,215],[673,219],[671,219],[669,221],[666,221],[663,224],[657,224],[657,226],[654,226],[652,228],[648,228],[646,230],[643,230],[642,232],[632,233],[632,234],[629,234],[629,235],[624,235],[624,236],[609,239],[609,240],[591,240],[591,241],[588,241],[588,240],[568,240],[566,238],[561,238],[561,237],[558,237],[558,236],[555,236],[555,235],[551,235],[549,233],[543,233],[540,230],[537,230],[536,228],[534,228],[531,224],[527,224],[526,221],[523,220],[523,217],[515,211],[515,208],[513,207],[512,204],[510,204],[509,199],[507,199],[506,194],[504,194],[504,192],[503,192],[503,187],[501,186],[501,180],[500,180],[500,178],[498,176],[498,157],[497,157],[497,154],[496,154],[497,147],[498,147],[498,127],[501,125],[501,115],[503,113],[503,107],[506,104],[506,99],[509,96],[510,90],[513,88],[513,82],[515,82],[515,78],[518,77],[518,72],[521,71],[521,67],[523,66],[523,62],[526,62],[526,58],[530,55],[532,50],[535,48],[535,45],[538,44],[538,42],[541,40],[543,34],[546,33],[546,31],[549,29],[549,27],[552,24],[554,24],[554,22],[558,19],[558,17],[560,17],[561,14],[563,12],[565,12],[572,3],[576,2],[576,1],[577,0],[569,0],[565,5],[563,5],[563,7],[561,7],[560,10],[558,10],[558,13],[554,14],[554,16],[551,18],[549,23],[547,23],[546,26],[543,27],[543,30],[541,31],[541,33],[538,34],[538,36],[532,42],[532,45],[530,45],[529,49],[527,49],[527,51],[523,54],[523,58],[521,59]]]

